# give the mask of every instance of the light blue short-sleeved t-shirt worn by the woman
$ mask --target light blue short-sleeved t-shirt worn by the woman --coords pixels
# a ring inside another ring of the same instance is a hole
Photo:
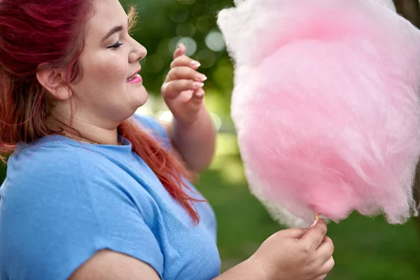
[[[156,120],[136,118],[169,144]],[[0,279],[64,280],[105,248],[148,263],[161,279],[213,279],[221,268],[216,218],[206,202],[195,206],[199,225],[127,139],[94,146],[53,136],[19,145],[0,188]]]

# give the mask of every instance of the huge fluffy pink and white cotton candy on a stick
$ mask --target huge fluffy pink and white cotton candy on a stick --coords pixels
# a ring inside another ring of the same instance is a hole
[[[420,31],[390,0],[243,0],[218,26],[252,193],[281,223],[416,214]]]

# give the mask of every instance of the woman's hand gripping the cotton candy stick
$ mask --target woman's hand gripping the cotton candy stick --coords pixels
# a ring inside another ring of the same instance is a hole
[[[311,229],[288,229],[265,240],[248,262],[261,269],[263,279],[321,280],[334,267],[334,245],[325,236],[322,219]]]

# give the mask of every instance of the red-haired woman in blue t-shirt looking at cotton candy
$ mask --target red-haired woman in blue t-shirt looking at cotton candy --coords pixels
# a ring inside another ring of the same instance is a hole
[[[214,153],[205,77],[181,45],[162,86],[174,123],[134,116],[147,92],[132,15],[118,0],[0,1],[0,279],[324,279],[324,222],[219,275],[216,219],[186,171]]]

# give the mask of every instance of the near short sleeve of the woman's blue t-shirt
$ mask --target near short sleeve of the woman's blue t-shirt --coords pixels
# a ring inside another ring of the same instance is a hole
[[[162,278],[158,240],[118,176],[74,151],[51,153],[48,160],[37,154],[10,160],[1,188],[0,267],[8,267],[6,279],[64,280],[102,249],[146,262]],[[31,172],[18,176],[17,169]]]

